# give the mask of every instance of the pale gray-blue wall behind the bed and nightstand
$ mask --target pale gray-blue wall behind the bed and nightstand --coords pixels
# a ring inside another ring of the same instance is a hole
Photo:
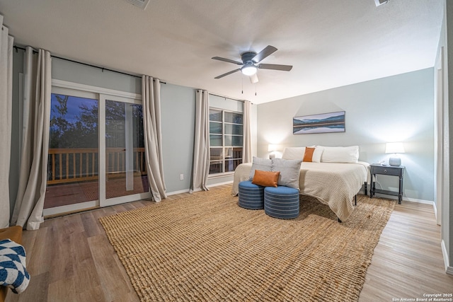
[[[268,156],[268,144],[285,146],[360,146],[360,161],[387,161],[387,141],[403,141],[406,166],[403,197],[434,200],[433,69],[333,88],[258,105],[258,156]],[[345,132],[292,134],[292,118],[345,111]],[[397,181],[379,178],[384,190]],[[378,185],[379,186],[379,185]]]

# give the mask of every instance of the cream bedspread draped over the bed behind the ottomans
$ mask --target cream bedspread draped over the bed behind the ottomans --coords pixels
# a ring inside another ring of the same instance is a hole
[[[251,163],[241,163],[234,171],[232,194],[239,192],[239,182],[248,180]],[[346,221],[354,205],[352,199],[364,182],[369,183],[369,163],[307,163],[300,169],[300,194],[316,197]]]

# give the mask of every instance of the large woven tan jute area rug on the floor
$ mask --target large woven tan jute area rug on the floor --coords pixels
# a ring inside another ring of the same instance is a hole
[[[100,220],[141,301],[357,301],[395,203],[358,195],[338,223],[302,195],[292,220],[237,202],[226,188]]]

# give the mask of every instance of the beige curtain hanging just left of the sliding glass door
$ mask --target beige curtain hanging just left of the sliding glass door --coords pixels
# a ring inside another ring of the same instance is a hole
[[[33,54],[33,49],[26,47],[21,170],[11,224],[26,224],[27,230],[40,228],[43,221],[49,153],[51,61],[50,52],[39,50],[38,54]]]

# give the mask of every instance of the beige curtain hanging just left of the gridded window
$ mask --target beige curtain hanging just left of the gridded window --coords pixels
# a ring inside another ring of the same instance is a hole
[[[209,93],[197,90],[195,95],[195,143],[193,145],[192,182],[190,193],[200,189],[208,191],[210,173],[210,105]]]

